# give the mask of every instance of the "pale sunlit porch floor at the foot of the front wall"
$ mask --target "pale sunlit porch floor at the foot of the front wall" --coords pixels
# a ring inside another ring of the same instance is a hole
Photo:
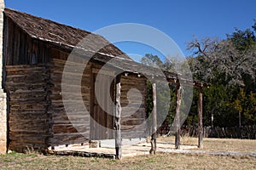
[[[130,142],[129,142],[130,141]],[[170,142],[157,142],[157,152],[177,152],[175,150],[175,144]],[[191,150],[197,148],[196,145],[181,145],[180,150]],[[122,156],[145,156],[149,154],[151,149],[150,142],[146,142],[145,139],[139,142],[132,142],[131,140],[123,140],[122,145]],[[61,156],[86,156],[86,157],[105,157],[114,159],[115,148],[114,140],[101,140],[100,147],[90,148],[89,144],[72,144],[68,146],[58,146],[55,150],[48,150],[50,155],[61,155]]]

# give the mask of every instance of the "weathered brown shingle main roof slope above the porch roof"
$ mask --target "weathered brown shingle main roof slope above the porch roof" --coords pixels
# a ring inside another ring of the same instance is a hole
[[[103,46],[104,48],[100,49],[99,52],[112,56],[122,55],[125,59],[130,59],[104,37],[89,31],[66,26],[52,20],[46,20],[10,8],[5,8],[4,14],[11,20],[14,20],[23,31],[26,31],[26,33],[33,38],[56,43],[63,48],[74,48],[77,47],[78,43],[83,40],[84,37],[88,36],[85,39],[86,42],[83,44],[83,48],[86,50],[98,52],[98,47],[102,47],[102,44],[108,44],[108,46]]]

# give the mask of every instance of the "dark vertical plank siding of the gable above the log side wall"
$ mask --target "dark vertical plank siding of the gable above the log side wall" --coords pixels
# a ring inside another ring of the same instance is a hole
[[[48,43],[30,37],[9,17],[4,20],[4,60],[5,65],[30,65],[49,62]]]

